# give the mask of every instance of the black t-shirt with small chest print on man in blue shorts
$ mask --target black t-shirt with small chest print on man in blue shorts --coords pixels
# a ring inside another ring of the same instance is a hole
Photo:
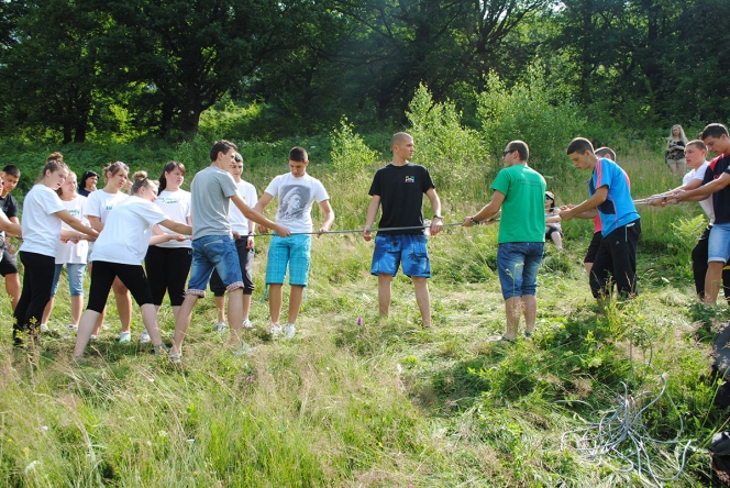
[[[370,196],[380,197],[383,215],[378,228],[405,228],[423,225],[423,193],[434,188],[429,170],[408,163],[380,168],[373,178]],[[422,234],[422,229],[380,232],[379,234]]]

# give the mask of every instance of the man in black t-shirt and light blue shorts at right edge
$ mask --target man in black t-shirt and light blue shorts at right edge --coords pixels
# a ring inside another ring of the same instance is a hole
[[[709,124],[701,135],[707,148],[717,154],[705,171],[703,186],[674,195],[677,202],[701,201],[712,195],[715,224],[708,240],[705,303],[715,304],[720,290],[722,268],[730,259],[730,136],[722,124]]]

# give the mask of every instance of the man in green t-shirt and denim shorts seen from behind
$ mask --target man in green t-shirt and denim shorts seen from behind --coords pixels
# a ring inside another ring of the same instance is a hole
[[[545,179],[528,166],[529,155],[524,142],[507,144],[505,168],[491,184],[491,201],[462,224],[469,228],[502,211],[497,268],[507,313],[507,331],[499,341],[506,342],[517,339],[522,313],[524,335],[530,337],[538,315],[538,269],[545,245]]]

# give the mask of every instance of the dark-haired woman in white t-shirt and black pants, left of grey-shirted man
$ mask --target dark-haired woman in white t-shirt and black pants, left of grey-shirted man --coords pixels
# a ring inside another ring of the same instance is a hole
[[[185,166],[175,160],[167,163],[159,177],[159,193],[155,203],[175,222],[191,225],[190,192],[180,189],[182,181],[185,181]],[[155,228],[154,232],[161,235],[177,234],[162,225]],[[173,240],[151,245],[144,260],[155,307],[159,310],[167,292],[176,319],[185,300],[185,282],[192,263],[191,247],[190,240],[182,242]],[[142,333],[140,342],[148,341],[150,337]]]

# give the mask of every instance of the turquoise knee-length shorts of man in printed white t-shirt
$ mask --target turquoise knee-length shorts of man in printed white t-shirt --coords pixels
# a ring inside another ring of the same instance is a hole
[[[274,234],[268,246],[266,263],[266,285],[283,285],[289,266],[289,285],[307,286],[309,260],[312,254],[312,237],[291,235],[279,237]]]

